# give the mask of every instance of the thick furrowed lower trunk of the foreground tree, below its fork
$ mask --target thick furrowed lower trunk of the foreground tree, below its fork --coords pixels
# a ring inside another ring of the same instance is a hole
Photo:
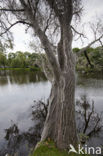
[[[74,108],[75,75],[72,70],[61,73],[54,81],[49,98],[49,109],[41,140],[52,139],[61,149],[77,145]]]

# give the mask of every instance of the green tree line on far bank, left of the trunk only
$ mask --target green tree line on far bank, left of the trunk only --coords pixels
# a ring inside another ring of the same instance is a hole
[[[44,54],[42,54],[44,55]],[[39,53],[30,52],[10,52],[8,54],[0,52],[0,67],[1,68],[28,68],[36,66],[40,61]]]

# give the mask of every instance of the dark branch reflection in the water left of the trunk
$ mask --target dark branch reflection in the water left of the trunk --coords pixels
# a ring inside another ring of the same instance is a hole
[[[12,123],[12,125],[5,130],[7,147],[3,149],[3,151],[0,151],[0,156],[5,156],[6,153],[12,156],[14,156],[14,153],[18,153],[17,156],[28,156],[36,143],[40,141],[48,105],[42,101],[34,101],[34,103],[31,116],[34,125],[30,127],[27,132],[20,132],[18,125]]]

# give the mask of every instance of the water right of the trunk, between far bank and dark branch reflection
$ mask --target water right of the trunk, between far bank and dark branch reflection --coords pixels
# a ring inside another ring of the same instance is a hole
[[[96,111],[101,112],[103,110],[103,75],[88,78],[77,74],[76,84],[76,98],[87,95],[89,99],[94,100]]]

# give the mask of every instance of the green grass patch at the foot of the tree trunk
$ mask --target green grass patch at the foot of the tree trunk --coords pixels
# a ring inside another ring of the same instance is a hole
[[[66,150],[59,150],[52,141],[38,144],[36,150],[29,156],[81,156],[82,154],[68,153]],[[86,156],[86,154],[83,154]]]

